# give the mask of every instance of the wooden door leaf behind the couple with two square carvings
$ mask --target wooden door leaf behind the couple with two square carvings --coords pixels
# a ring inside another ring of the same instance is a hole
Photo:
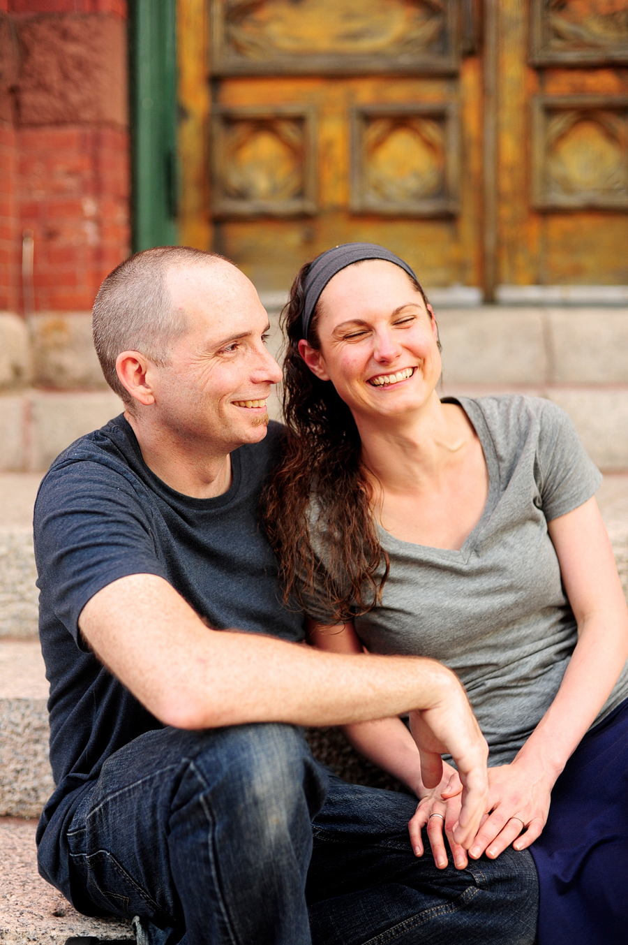
[[[482,96],[462,6],[213,0],[213,245],[260,289],[349,240],[432,285],[480,284]]]

